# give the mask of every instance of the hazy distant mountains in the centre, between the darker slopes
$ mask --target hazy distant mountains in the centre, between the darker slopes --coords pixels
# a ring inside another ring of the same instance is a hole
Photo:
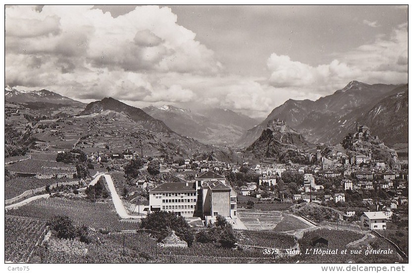
[[[171,105],[145,107],[144,110],[162,120],[178,134],[193,137],[206,144],[230,145],[258,122],[228,109],[181,109]]]

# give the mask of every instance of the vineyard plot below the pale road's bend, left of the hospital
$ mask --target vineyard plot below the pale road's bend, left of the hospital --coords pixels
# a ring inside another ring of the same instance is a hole
[[[120,218],[109,202],[92,203],[82,199],[51,197],[9,210],[7,214],[45,220],[57,215],[66,215],[72,219],[74,225],[86,225],[107,230],[137,229],[139,227],[137,222],[120,222]]]

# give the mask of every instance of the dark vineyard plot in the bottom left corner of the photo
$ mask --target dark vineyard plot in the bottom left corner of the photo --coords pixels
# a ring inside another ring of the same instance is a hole
[[[5,216],[4,259],[13,263],[26,262],[45,226],[42,220]]]

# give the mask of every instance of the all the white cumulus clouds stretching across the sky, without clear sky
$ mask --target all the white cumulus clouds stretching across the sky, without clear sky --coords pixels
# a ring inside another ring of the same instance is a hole
[[[262,77],[241,77],[224,73],[168,7],[139,6],[116,18],[88,5],[5,9],[6,84],[88,102],[111,96],[138,107],[210,106],[264,117],[289,98],[317,99],[352,80],[406,83],[407,46],[403,24],[320,65],[274,52]]]

